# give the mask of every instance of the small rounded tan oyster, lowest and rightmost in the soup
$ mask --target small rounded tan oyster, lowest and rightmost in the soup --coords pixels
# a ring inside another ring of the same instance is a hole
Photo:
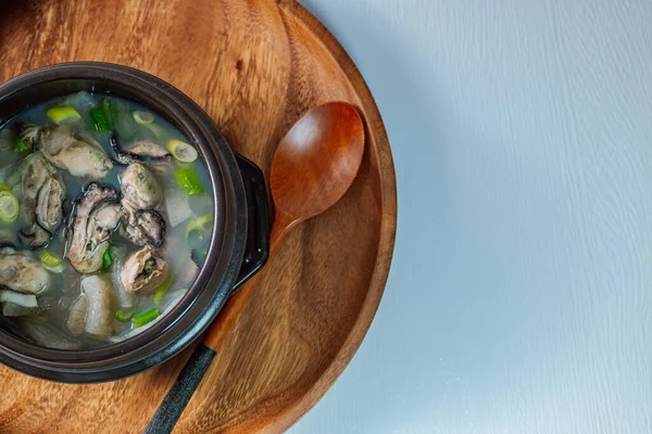
[[[147,294],[163,284],[168,273],[170,267],[161,252],[148,245],[129,256],[122,270],[121,280],[128,292]]]

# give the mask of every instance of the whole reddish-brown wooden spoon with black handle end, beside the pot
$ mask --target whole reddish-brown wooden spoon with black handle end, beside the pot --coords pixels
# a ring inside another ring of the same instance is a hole
[[[271,257],[294,225],[324,213],[344,195],[358,175],[363,153],[362,119],[348,103],[326,103],[294,124],[280,141],[272,162],[269,183],[276,216],[269,235]],[[260,277],[261,272],[227,302],[145,433],[172,432]]]

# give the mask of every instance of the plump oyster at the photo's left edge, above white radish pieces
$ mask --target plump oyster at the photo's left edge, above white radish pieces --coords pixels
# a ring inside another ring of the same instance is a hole
[[[0,289],[37,295],[50,286],[43,265],[22,254],[0,255]]]

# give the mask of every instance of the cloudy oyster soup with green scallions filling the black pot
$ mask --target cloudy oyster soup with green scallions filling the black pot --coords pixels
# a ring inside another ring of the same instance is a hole
[[[159,321],[213,221],[208,170],[162,116],[78,92],[0,127],[2,316],[34,343],[93,348]]]

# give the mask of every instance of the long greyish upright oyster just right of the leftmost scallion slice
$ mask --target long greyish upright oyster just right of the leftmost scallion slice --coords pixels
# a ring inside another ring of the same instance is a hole
[[[63,219],[65,183],[59,171],[40,152],[29,156],[22,174],[21,231],[23,244],[32,250],[45,247]]]

